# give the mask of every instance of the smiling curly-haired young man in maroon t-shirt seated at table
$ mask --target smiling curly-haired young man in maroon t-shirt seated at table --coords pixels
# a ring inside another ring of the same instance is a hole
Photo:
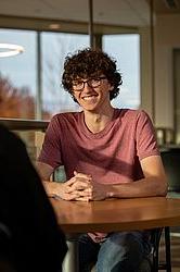
[[[100,50],[68,55],[62,79],[81,112],[56,114],[47,129],[38,170],[50,196],[65,200],[103,200],[165,196],[167,181],[149,115],[115,109],[121,75]],[[65,183],[48,182],[64,165]],[[153,201],[153,200],[152,200]],[[80,271],[137,271],[150,252],[147,232],[85,234],[79,237]]]

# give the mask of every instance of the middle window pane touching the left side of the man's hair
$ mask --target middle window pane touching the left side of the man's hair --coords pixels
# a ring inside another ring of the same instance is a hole
[[[78,111],[79,107],[61,86],[65,57],[89,46],[88,35],[42,33],[42,108],[51,115]]]

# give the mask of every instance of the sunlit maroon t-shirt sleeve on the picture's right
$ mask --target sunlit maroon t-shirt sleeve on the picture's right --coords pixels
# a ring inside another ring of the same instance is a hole
[[[136,129],[137,153],[140,160],[150,156],[159,156],[153,123],[146,112],[140,111]]]

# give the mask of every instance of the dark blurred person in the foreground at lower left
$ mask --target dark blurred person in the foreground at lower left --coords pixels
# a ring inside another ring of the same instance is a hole
[[[0,125],[0,271],[61,272],[65,236],[24,143]]]

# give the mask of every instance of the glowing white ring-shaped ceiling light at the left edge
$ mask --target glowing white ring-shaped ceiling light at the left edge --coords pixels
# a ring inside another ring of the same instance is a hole
[[[11,57],[24,52],[22,46],[12,44],[0,44],[0,58]]]

